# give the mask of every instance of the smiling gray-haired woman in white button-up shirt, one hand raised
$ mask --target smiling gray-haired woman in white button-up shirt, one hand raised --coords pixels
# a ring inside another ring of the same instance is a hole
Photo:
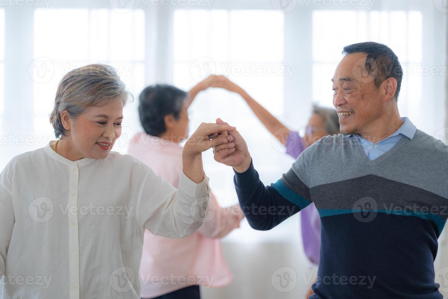
[[[183,238],[201,226],[210,193],[201,152],[228,142],[211,135],[235,128],[199,126],[183,148],[176,189],[111,152],[128,95],[111,66],[65,74],[50,117],[60,139],[0,173],[1,298],[140,298],[144,230]]]

